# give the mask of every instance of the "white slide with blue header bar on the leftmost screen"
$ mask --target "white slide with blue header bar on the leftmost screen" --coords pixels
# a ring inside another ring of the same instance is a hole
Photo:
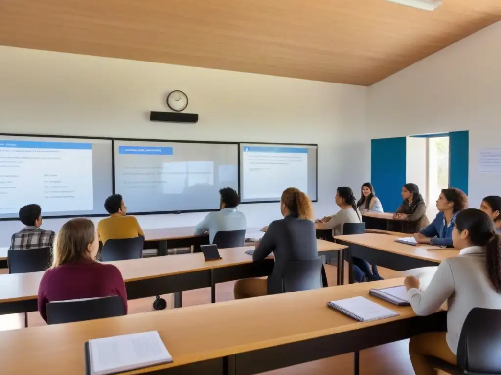
[[[0,139],[0,214],[94,208],[92,143]]]

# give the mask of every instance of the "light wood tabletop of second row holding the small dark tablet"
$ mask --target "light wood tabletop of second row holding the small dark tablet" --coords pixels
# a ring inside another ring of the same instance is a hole
[[[347,246],[317,240],[319,253],[344,249]],[[205,261],[203,253],[179,254],[173,256],[148,257],[131,260],[118,260],[105,263],[114,264],[120,269],[124,281],[145,281],[166,276],[196,273],[204,270],[253,263],[252,255],[245,251],[252,246],[219,249],[220,260]],[[272,258],[272,257],[271,257]],[[38,286],[44,272],[14,273],[0,275],[0,304],[5,302],[36,299]],[[210,285],[207,285],[210,286]],[[162,293],[163,294],[163,293]],[[153,294],[157,295],[157,294]]]

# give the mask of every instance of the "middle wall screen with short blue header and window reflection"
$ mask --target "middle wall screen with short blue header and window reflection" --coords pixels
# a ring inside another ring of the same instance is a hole
[[[238,190],[236,143],[115,140],[115,189],[130,213],[219,208]]]

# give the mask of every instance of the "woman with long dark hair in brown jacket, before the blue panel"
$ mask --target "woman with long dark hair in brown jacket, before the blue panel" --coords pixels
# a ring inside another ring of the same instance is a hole
[[[426,217],[426,204],[415,183],[406,183],[402,187],[402,204],[393,215],[395,220],[402,220],[404,233],[416,233],[424,229],[430,222]]]

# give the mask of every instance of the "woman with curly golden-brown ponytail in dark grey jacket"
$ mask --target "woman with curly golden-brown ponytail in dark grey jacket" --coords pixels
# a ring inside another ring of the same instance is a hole
[[[318,258],[314,213],[310,198],[297,188],[282,193],[280,210],[283,219],[273,221],[256,245],[253,260],[260,261],[270,253],[275,255],[273,272],[267,279],[247,278],[235,283],[235,299],[282,293],[282,273],[288,260]]]

